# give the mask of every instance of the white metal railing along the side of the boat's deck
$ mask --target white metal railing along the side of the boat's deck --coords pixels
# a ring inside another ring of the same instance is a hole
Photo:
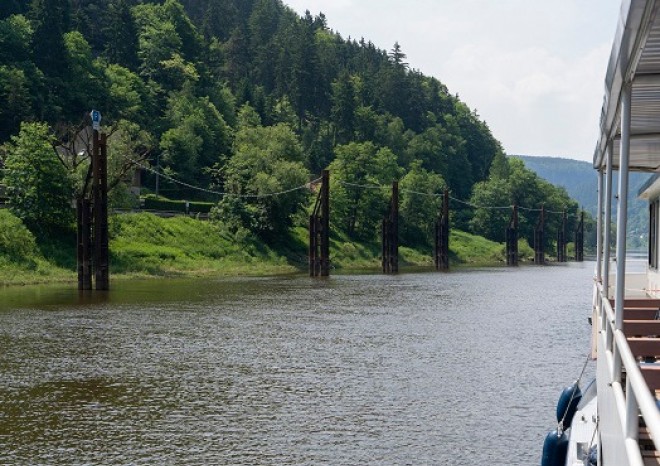
[[[619,419],[625,436],[625,449],[630,464],[643,465],[639,449],[640,415],[648,433],[660,450],[660,410],[651,394],[639,364],[622,329],[617,329],[614,310],[602,284],[597,283],[597,311],[599,318],[599,338],[603,338],[609,380],[612,387]],[[623,373],[625,371],[625,390]]]

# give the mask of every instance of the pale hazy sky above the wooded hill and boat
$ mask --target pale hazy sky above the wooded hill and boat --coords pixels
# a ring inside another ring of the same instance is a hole
[[[284,0],[391,50],[476,109],[508,154],[591,161],[621,0]]]

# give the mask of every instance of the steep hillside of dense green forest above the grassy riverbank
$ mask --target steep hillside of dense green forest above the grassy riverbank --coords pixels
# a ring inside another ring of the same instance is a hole
[[[109,134],[113,205],[136,202],[139,167],[143,194],[158,172],[160,194],[212,201],[232,231],[266,240],[304,222],[313,198],[295,188],[325,168],[333,225],[357,239],[375,237],[389,196],[368,188],[394,180],[410,243],[430,240],[444,188],[455,201],[476,196],[454,206],[456,226],[497,240],[508,214],[475,207],[576,208],[509,167],[487,124],[398,43],[344,38],[323,14],[300,17],[280,0],[2,1],[3,183],[31,229],[70,225],[91,109]]]

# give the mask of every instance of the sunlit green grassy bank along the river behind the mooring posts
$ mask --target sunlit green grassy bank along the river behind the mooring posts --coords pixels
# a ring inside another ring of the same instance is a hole
[[[305,271],[307,230],[298,227],[266,245],[248,234],[233,235],[222,225],[188,217],[125,214],[110,218],[111,273],[121,277],[273,275]],[[331,259],[336,270],[379,270],[380,245],[335,235]],[[428,249],[428,250],[426,250]],[[452,231],[452,264],[494,265],[503,246]],[[433,265],[429,248],[400,247],[401,266]],[[7,210],[0,210],[0,284],[73,282],[75,234],[35,237]]]

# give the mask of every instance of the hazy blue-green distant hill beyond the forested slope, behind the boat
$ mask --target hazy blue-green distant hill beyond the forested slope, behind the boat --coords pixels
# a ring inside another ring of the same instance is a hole
[[[598,210],[598,177],[596,170],[590,162],[564,159],[560,157],[535,157],[529,155],[512,155],[525,162],[525,166],[534,171],[541,178],[555,186],[566,189],[568,195],[575,199],[587,212],[596,216]],[[643,246],[648,232],[647,204],[637,198],[640,188],[646,183],[648,173],[630,174],[628,203],[629,226],[628,230],[640,240],[634,246]],[[614,173],[614,194],[616,195],[618,179]],[[616,201],[613,200],[613,215],[616,214]]]

